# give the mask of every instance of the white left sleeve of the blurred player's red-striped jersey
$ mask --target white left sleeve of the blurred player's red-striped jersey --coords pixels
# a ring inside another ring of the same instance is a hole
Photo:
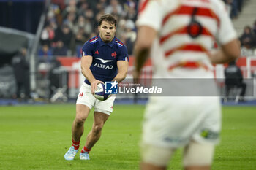
[[[162,24],[163,13],[161,2],[151,0],[143,3],[142,1],[140,6],[143,6],[141,7],[143,9],[140,9],[136,26],[149,26],[159,31]]]

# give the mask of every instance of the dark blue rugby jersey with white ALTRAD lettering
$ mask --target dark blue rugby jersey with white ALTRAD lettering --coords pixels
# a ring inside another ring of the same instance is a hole
[[[91,72],[95,79],[102,82],[111,81],[118,72],[117,61],[129,61],[127,47],[116,38],[109,43],[102,41],[100,36],[89,39],[82,47],[82,55],[91,55]],[[85,80],[91,85],[89,80]]]

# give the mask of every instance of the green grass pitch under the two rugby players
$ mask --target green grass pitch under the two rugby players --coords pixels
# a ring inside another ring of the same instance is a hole
[[[105,124],[90,161],[65,161],[71,145],[75,104],[0,107],[0,169],[139,169],[139,141],[144,106],[117,105]],[[86,120],[80,146],[92,117]],[[223,107],[222,142],[214,170],[256,169],[256,107]],[[80,147],[80,148],[81,148]],[[168,169],[182,169],[178,150]]]

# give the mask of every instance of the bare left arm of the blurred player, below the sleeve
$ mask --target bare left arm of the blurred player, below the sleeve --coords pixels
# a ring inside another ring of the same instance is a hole
[[[138,78],[146,59],[149,57],[151,45],[157,36],[157,31],[149,26],[138,28],[138,38],[135,42],[135,71],[134,78]]]

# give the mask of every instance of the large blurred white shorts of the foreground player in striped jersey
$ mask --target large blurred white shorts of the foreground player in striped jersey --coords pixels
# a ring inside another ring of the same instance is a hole
[[[151,97],[143,121],[142,144],[178,148],[192,140],[217,144],[221,129],[219,97]]]

